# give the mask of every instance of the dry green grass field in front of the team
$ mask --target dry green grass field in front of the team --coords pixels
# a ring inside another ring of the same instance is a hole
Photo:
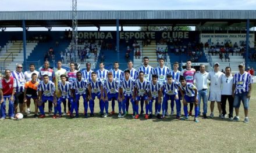
[[[0,152],[255,152],[255,94],[254,90],[248,124],[243,122],[243,108],[239,122],[219,119],[216,104],[216,117],[200,118],[199,123],[192,117],[190,121],[175,116],[145,120],[131,115],[118,118],[118,114],[87,119],[82,114],[74,119],[35,119],[31,114],[20,121],[5,119],[0,122]],[[98,102],[95,109],[99,111]]]

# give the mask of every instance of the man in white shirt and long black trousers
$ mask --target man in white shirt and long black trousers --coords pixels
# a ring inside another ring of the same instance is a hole
[[[232,96],[232,86],[233,86],[233,76],[231,74],[231,68],[225,68],[225,75],[221,78],[222,90],[221,90],[221,109],[222,116],[221,118],[226,117],[226,101],[229,101],[229,120],[233,118],[233,102],[234,98]]]

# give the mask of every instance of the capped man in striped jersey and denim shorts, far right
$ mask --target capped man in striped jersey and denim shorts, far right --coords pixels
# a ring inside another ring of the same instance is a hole
[[[234,103],[233,107],[236,111],[236,116],[234,116],[233,121],[239,121],[239,107],[241,101],[244,105],[244,123],[248,123],[248,108],[249,108],[249,100],[251,97],[251,90],[253,88],[253,81],[251,78],[251,74],[245,71],[244,64],[239,64],[239,72],[234,74],[233,79],[233,97]]]

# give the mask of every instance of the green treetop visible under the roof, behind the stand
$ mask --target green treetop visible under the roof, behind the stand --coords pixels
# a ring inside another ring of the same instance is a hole
[[[140,27],[140,31],[190,31],[189,26],[148,26]]]

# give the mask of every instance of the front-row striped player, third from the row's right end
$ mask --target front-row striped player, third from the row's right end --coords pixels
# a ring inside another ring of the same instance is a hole
[[[150,103],[150,116],[149,118],[152,118],[152,107],[153,107],[153,101],[155,100],[155,110],[156,112],[161,111],[161,95],[162,95],[162,89],[160,83],[157,81],[158,75],[153,74],[152,75],[152,81],[148,83],[148,101]]]

